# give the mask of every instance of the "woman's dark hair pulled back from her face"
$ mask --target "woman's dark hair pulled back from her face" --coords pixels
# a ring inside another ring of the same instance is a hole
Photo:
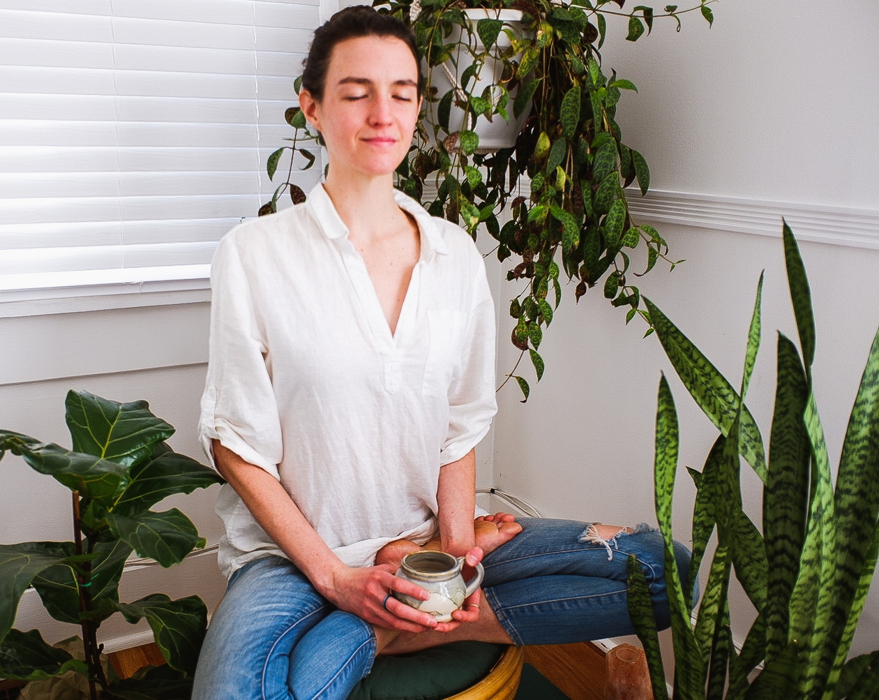
[[[323,99],[323,87],[326,84],[333,48],[340,41],[364,36],[390,36],[403,41],[409,47],[418,66],[418,94],[424,91],[425,77],[421,71],[421,59],[418,57],[415,36],[399,19],[376,12],[369,5],[346,7],[317,27],[315,38],[309,47],[309,55],[302,62],[302,88],[309,91],[316,100]]]

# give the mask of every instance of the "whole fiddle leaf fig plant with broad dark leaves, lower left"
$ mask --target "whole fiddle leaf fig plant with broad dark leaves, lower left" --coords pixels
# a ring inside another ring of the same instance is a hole
[[[174,428],[145,401],[120,404],[70,391],[66,407],[72,449],[0,430],[0,459],[6,451],[22,456],[69,488],[73,506],[72,541],[0,544],[0,677],[34,682],[76,671],[88,678],[92,700],[177,697],[195,671],[207,628],[205,604],[197,595],[172,601],[165,594],[123,603],[120,579],[132,552],[171,566],[203,547],[204,538],[178,508],[150,508],[222,478],[168,447]],[[85,660],[48,645],[37,630],[12,627],[31,586],[50,616],[80,626]],[[168,668],[124,682],[107,677],[97,633],[117,612],[130,623],[147,619]]]

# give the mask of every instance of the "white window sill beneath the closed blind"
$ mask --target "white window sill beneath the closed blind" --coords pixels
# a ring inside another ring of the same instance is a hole
[[[210,265],[0,275],[0,318],[210,301]]]

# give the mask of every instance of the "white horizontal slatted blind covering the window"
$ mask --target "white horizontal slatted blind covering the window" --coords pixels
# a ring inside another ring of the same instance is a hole
[[[0,289],[207,266],[271,197],[319,11],[0,0]]]

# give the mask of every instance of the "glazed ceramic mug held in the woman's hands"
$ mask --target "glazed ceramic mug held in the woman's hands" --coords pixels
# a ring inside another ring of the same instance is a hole
[[[416,551],[403,557],[396,575],[426,588],[431,597],[426,601],[394,591],[397,600],[412,608],[423,610],[437,618],[437,622],[447,623],[452,612],[460,609],[464,600],[476,591],[483,582],[483,565],[476,565],[476,576],[465,584],[461,576],[464,558],[455,558],[444,551]]]

